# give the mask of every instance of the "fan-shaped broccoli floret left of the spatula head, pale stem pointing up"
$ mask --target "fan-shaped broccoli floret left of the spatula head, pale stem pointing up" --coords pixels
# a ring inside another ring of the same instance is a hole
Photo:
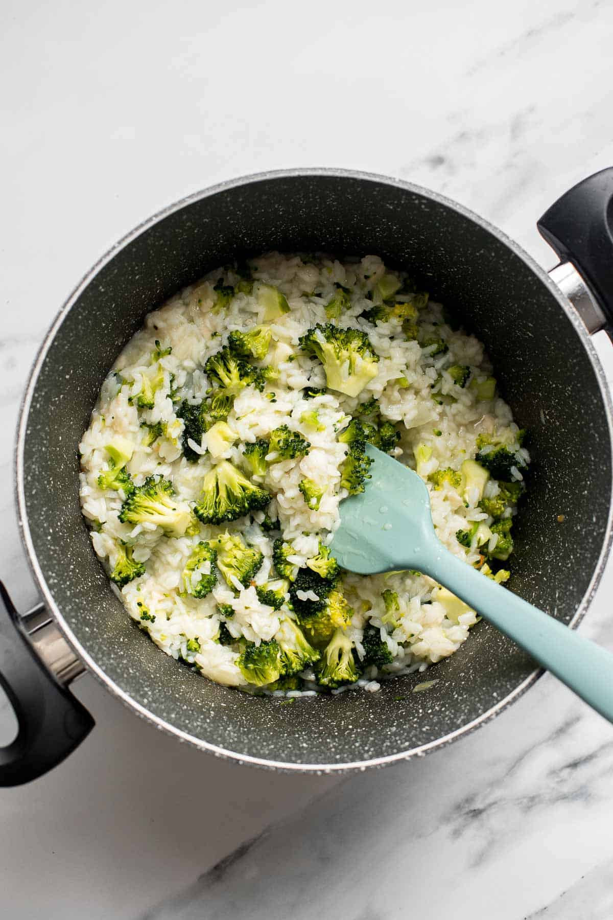
[[[259,511],[269,501],[267,491],[247,479],[229,461],[222,460],[202,480],[194,512],[202,523],[224,523]]]

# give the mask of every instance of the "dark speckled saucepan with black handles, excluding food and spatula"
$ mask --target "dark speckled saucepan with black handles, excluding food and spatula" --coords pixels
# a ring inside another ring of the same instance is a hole
[[[17,738],[0,785],[62,761],[93,726],[70,691],[85,669],[139,716],[202,751],[280,770],[343,772],[432,751],[492,719],[539,677],[481,622],[456,655],[373,694],[280,707],[212,684],[155,648],[111,591],[79,507],[78,443],[108,368],[171,293],[218,265],[278,249],[376,253],[410,270],[490,353],[530,431],[528,500],[511,590],[570,627],[596,591],[611,542],[612,413],[590,334],[613,318],[613,168],[539,221],[549,275],[503,233],[433,191],[366,173],[299,169],[198,192],[111,249],[63,305],[34,364],[17,437],[21,532],[41,603],[19,616],[3,589],[0,672]]]

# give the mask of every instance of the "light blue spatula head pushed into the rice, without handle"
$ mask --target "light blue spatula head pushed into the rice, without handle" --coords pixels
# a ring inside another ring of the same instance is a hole
[[[430,497],[412,469],[371,444],[366,491],[341,502],[341,525],[331,544],[339,565],[359,575],[418,569],[437,552]],[[421,569],[420,569],[421,570]]]

